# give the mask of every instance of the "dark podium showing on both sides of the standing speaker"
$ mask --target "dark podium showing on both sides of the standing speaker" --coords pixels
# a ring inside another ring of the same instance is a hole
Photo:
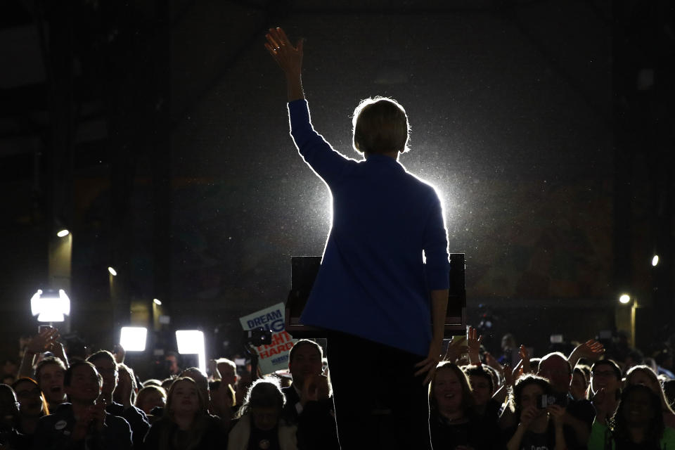
[[[285,307],[286,331],[294,339],[326,338],[326,330],[300,323],[304,305],[321,266],[320,256],[294,256],[290,258],[291,288]],[[465,260],[463,253],[450,254],[450,289],[445,317],[444,336],[463,335],[466,331],[466,289],[464,282]]]

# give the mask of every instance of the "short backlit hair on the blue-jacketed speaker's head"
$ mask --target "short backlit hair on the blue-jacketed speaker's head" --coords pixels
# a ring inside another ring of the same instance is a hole
[[[410,124],[406,110],[393,98],[366,98],[354,109],[354,150],[359,153],[405,153]]]

